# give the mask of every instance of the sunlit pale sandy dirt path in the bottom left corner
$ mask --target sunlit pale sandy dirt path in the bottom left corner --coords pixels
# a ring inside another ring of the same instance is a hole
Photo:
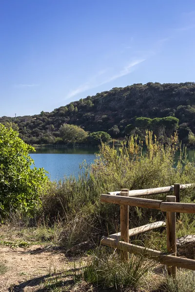
[[[46,291],[42,289],[44,280],[52,273],[67,269],[66,257],[61,251],[41,245],[26,249],[0,246],[0,260],[8,267],[8,271],[0,275],[0,292]]]

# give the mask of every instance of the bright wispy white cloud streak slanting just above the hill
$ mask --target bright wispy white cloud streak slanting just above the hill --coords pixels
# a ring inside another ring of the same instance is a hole
[[[119,70],[117,73],[114,74],[110,74],[110,76],[105,76],[105,73],[108,71],[108,69],[106,70],[102,70],[100,71],[97,75],[95,75],[94,77],[92,77],[90,80],[88,80],[86,83],[80,85],[78,88],[76,88],[73,91],[70,91],[69,94],[66,96],[66,98],[71,98],[81,92],[87,91],[89,89],[92,88],[96,88],[98,86],[101,86],[103,84],[109,83],[113,80],[116,80],[122,76],[125,76],[131,72],[133,72],[134,67],[142,62],[144,62],[146,59],[137,59],[132,61],[131,63],[127,64],[125,67],[123,67],[121,70]],[[104,75],[104,80],[102,80],[101,78],[99,78],[99,76]]]

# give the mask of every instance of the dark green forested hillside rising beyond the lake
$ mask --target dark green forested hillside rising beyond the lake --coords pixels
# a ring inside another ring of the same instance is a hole
[[[105,131],[113,138],[120,138],[136,132],[138,117],[177,118],[179,127],[175,122],[174,127],[186,142],[189,134],[193,136],[195,132],[195,83],[149,82],[113,88],[52,112],[19,116],[16,121],[3,116],[0,123],[16,123],[20,137],[27,143],[52,144],[62,143],[59,129],[64,123],[78,125],[89,132]]]

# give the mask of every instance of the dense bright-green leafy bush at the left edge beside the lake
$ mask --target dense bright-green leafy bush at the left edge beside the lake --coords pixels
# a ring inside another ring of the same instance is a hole
[[[43,168],[34,164],[29,152],[35,151],[24,143],[12,128],[0,124],[0,216],[12,210],[27,214],[39,205],[39,191],[48,178]]]

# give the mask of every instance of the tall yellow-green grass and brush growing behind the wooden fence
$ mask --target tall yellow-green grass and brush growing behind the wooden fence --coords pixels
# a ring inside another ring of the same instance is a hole
[[[102,193],[195,182],[195,164],[187,160],[176,134],[163,145],[152,132],[146,132],[145,141],[145,148],[134,136],[119,149],[102,144],[95,163],[83,164],[78,179],[72,176],[59,183],[48,183],[41,195],[39,214],[51,223],[63,222],[61,244],[71,247],[118,230],[119,206],[100,203]],[[165,199],[166,194],[160,197]],[[194,201],[193,189],[181,191],[181,199]],[[158,219],[164,219],[161,211],[130,207],[130,228]],[[187,219],[190,223],[193,217]]]

